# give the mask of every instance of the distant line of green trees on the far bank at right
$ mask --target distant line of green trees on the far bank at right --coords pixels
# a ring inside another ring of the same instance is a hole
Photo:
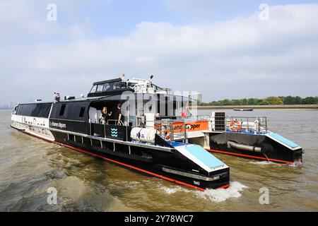
[[[228,106],[228,105],[318,105],[318,97],[266,97],[264,99],[249,98],[238,100],[218,100],[213,102],[199,102],[200,106]]]

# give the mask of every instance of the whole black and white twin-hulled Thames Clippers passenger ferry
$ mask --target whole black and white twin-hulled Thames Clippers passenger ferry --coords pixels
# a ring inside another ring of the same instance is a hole
[[[300,145],[269,131],[266,117],[228,117],[225,112],[187,116],[191,103],[189,97],[154,85],[152,76],[148,80],[123,77],[94,83],[87,97],[17,105],[11,126],[201,191],[230,184],[230,168],[211,153],[302,162]],[[118,104],[123,119],[100,123],[102,109],[114,112]]]

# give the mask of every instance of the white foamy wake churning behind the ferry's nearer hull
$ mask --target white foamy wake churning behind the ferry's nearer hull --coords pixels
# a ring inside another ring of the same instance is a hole
[[[166,194],[175,194],[179,191],[182,192],[193,192],[198,198],[203,198],[213,203],[220,203],[227,201],[229,198],[240,198],[244,189],[248,189],[247,186],[241,184],[240,182],[231,182],[228,189],[206,189],[206,191],[194,191],[190,189],[184,189],[181,186],[175,186],[173,188],[162,186],[160,189],[163,189]]]

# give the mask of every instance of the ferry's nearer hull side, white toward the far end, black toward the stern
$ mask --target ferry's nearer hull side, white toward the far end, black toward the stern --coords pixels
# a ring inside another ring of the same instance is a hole
[[[74,133],[73,129],[66,131],[67,123],[45,118],[12,115],[12,121],[13,128],[32,136],[194,189],[218,189],[230,184],[230,169],[226,165],[208,172],[171,146]]]

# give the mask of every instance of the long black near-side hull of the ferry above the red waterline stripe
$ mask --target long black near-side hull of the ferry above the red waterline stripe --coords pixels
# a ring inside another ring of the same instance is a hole
[[[229,168],[196,174],[192,171],[195,167],[194,163],[187,160],[177,150],[163,153],[161,150],[88,139],[84,136],[73,136],[70,133],[51,131],[38,126],[13,123],[11,127],[83,154],[193,189],[201,191],[220,189],[227,188],[230,184]]]

